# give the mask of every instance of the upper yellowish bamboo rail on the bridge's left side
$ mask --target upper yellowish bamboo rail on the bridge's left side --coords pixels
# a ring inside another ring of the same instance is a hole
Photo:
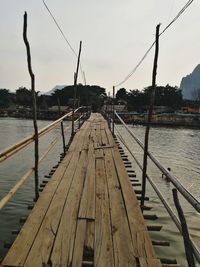
[[[79,108],[75,110],[75,113],[78,110],[79,110]],[[64,116],[62,116],[61,118],[59,118],[58,120],[56,120],[56,121],[50,123],[49,125],[45,126],[44,128],[42,128],[38,132],[38,137],[41,137],[41,136],[47,134],[49,131],[54,129],[62,120],[64,120],[66,117],[71,116],[71,114],[72,114],[72,112],[70,111],[69,113],[67,113]],[[35,139],[35,135],[33,134],[29,137],[24,138],[20,142],[12,145],[11,147],[5,149],[4,151],[0,152],[0,163],[3,162],[4,160],[8,159],[12,155],[16,154],[18,151],[20,151],[21,149],[23,149],[27,145],[31,144],[34,141],[34,139]]]

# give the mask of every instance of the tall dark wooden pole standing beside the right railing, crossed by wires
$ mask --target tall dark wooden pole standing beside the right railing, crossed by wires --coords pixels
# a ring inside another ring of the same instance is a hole
[[[145,199],[145,193],[146,193],[146,173],[147,173],[147,158],[148,158],[148,146],[149,146],[149,131],[150,131],[150,123],[151,123],[151,118],[153,114],[153,106],[155,102],[155,93],[156,93],[156,74],[157,74],[158,53],[159,53],[159,29],[160,29],[160,24],[157,25],[156,27],[156,48],[155,48],[155,57],[154,57],[153,74],[152,74],[152,92],[151,92],[148,121],[147,121],[145,140],[144,140],[141,206],[144,206],[144,199]]]

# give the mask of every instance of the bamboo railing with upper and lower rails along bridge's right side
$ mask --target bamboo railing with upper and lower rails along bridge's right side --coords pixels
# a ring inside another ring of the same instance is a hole
[[[144,150],[144,146],[142,142],[137,138],[137,136],[131,131],[131,129],[126,125],[126,123],[123,121],[123,119],[115,112],[116,117],[119,119],[119,121],[122,123],[124,128],[129,132],[129,134],[133,137],[133,139],[136,141],[136,143]],[[140,170],[142,171],[143,167],[142,164],[139,162],[139,160],[135,157],[129,146],[126,144],[126,141],[120,134],[120,132],[115,127],[115,130],[118,132],[118,136],[122,142],[122,144],[126,147],[126,149],[129,151],[130,155],[135,160],[136,164],[139,166]],[[186,199],[188,203],[197,211],[200,213],[200,202],[189,192],[184,185],[173,175],[171,174],[153,155],[150,151],[148,151],[148,157],[151,159],[151,161],[157,166],[157,168],[167,177],[169,181],[175,186],[175,188],[183,195],[183,197]],[[175,223],[177,229],[182,234],[182,227],[179,218],[174,213],[173,209],[171,208],[170,204],[166,201],[163,194],[155,184],[155,182],[150,178],[149,175],[146,175],[147,180],[149,181],[150,185],[158,195],[159,199],[163,203],[164,207],[166,208],[168,214],[170,215],[171,219]],[[198,246],[195,244],[195,242],[190,237],[191,244],[193,247],[193,253],[195,255],[195,258],[200,263],[200,251]]]

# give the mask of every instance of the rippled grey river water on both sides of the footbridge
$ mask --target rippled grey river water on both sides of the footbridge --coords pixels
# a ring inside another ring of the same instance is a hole
[[[48,121],[38,121],[39,128],[43,128]],[[68,125],[69,122],[65,122]],[[130,126],[136,136],[143,141],[145,128],[143,126]],[[121,125],[117,129],[125,139],[128,146],[136,157],[142,162],[142,151],[133,141],[132,137]],[[0,151],[15,142],[27,137],[33,133],[33,124],[31,120],[20,120],[13,118],[0,119]],[[49,142],[56,135],[60,134],[60,127],[52,130],[47,136],[40,139],[40,155],[46,150]],[[69,133],[67,134],[67,139]],[[171,172],[196,196],[200,199],[200,131],[198,129],[153,127],[150,131],[149,150],[165,166],[170,167]],[[42,181],[45,174],[48,174],[52,166],[59,160],[59,154],[62,153],[61,141],[50,153],[44,163],[40,165],[40,179]],[[0,163],[0,198],[2,198],[12,185],[34,164],[33,145],[22,150],[17,155],[11,157],[5,162]],[[127,151],[127,155],[129,155]],[[136,170],[137,178],[141,179],[141,172],[134,160],[129,155]],[[156,182],[159,189],[174,207],[172,199],[173,185],[162,178],[157,168],[148,162],[148,174]],[[147,214],[156,214],[156,221],[146,221],[148,224],[162,225],[162,231],[151,233],[152,239],[170,241],[170,247],[155,247],[156,253],[162,258],[177,259],[181,266],[187,266],[184,257],[183,240],[179,236],[176,226],[171,222],[169,215],[165,212],[158,197],[152,188],[147,185],[147,196],[150,198],[145,204],[153,207]],[[34,181],[30,177],[18,191],[9,204],[0,211],[0,257],[6,254],[3,248],[5,241],[13,241],[15,236],[11,234],[14,229],[20,229],[19,219],[29,214],[27,206],[33,203]],[[191,208],[186,201],[182,199],[184,214],[189,225],[190,234],[200,247],[200,215]],[[175,209],[174,209],[175,210]]]

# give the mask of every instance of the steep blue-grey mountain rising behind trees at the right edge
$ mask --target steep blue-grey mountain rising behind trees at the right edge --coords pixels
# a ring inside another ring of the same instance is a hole
[[[200,95],[200,64],[191,74],[182,78],[180,89],[183,99],[197,100]]]

